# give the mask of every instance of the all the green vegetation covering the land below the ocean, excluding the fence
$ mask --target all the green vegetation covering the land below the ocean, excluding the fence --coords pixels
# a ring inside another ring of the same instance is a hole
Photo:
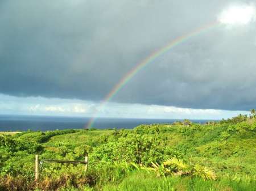
[[[256,190],[256,117],[204,125],[189,120],[133,130],[55,130],[0,134],[0,191]],[[43,163],[41,159],[84,160]]]

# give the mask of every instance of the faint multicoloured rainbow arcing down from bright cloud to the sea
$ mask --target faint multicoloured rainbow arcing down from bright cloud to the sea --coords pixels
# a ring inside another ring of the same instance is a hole
[[[184,43],[185,41],[191,39],[194,36],[200,35],[203,32],[207,32],[212,28],[220,26],[219,22],[213,22],[209,23],[205,26],[202,26],[200,28],[197,28],[183,36],[179,36],[176,39],[172,40],[170,43],[168,43],[166,46],[163,46],[159,50],[156,50],[155,52],[152,52],[148,57],[144,58],[141,62],[139,62],[133,69],[131,69],[126,75],[119,80],[117,84],[115,84],[114,88],[109,92],[108,95],[104,98],[104,100],[101,101],[100,107],[104,107],[106,103],[108,103],[109,100],[111,100],[130,80],[134,77],[139,71],[141,71],[144,67],[148,65],[148,63],[151,63],[159,56],[162,56],[162,54],[168,52],[171,48],[174,48],[177,45],[180,45]],[[97,113],[94,113],[94,116],[90,118],[88,125],[86,128],[91,128],[94,121],[97,118]]]

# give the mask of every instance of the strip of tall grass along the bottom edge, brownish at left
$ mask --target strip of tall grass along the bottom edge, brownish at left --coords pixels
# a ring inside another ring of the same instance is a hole
[[[41,177],[34,182],[25,177],[1,177],[0,191],[255,191],[255,177],[227,175],[216,181],[200,177],[156,177],[144,171],[124,172],[119,168],[91,169],[84,175],[74,172]]]

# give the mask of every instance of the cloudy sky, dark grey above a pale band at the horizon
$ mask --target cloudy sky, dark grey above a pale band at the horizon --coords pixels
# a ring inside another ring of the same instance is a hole
[[[251,1],[0,1],[0,114],[219,119],[256,108]],[[114,86],[152,52],[212,22]]]

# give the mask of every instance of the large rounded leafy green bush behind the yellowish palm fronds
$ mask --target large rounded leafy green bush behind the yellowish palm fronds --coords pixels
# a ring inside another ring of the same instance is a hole
[[[180,157],[180,154],[166,147],[160,137],[128,133],[94,148],[90,158],[93,162],[103,160],[110,163],[118,161],[148,165],[151,162],[162,162],[171,156]]]

